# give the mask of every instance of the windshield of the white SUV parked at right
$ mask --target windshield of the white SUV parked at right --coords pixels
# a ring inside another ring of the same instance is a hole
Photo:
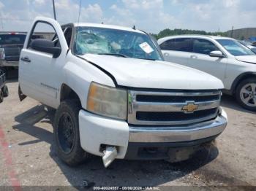
[[[255,55],[252,50],[249,50],[249,48],[245,47],[236,40],[217,39],[217,42],[222,44],[222,46],[225,47],[225,49],[230,52],[231,55]]]

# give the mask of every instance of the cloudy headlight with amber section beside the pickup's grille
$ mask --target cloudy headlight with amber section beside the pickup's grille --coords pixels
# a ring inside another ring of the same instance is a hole
[[[91,82],[87,110],[95,114],[126,120],[127,90]]]

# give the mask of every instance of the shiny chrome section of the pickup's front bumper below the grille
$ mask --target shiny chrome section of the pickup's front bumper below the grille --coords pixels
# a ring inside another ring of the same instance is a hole
[[[199,122],[186,126],[171,127],[137,127],[129,126],[129,142],[159,143],[180,142],[204,139],[222,133],[227,126],[227,114],[222,114],[215,120]]]

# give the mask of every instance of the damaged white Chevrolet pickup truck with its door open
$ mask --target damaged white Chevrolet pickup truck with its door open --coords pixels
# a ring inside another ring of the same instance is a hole
[[[31,39],[38,25],[52,39]],[[37,17],[20,55],[19,95],[56,109],[61,160],[187,160],[225,129],[222,82],[163,61],[143,31]]]

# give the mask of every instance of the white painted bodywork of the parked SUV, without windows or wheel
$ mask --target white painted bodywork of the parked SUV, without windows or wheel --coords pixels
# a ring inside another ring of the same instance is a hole
[[[230,90],[235,79],[246,72],[256,72],[256,55],[234,56],[225,50],[217,39],[231,39],[222,36],[202,36],[202,35],[181,35],[167,36],[159,39],[158,44],[162,44],[170,39],[177,38],[197,38],[206,39],[214,43],[226,58],[210,57],[209,55],[194,52],[181,52],[173,50],[162,50],[165,61],[175,62],[183,66],[189,66],[200,71],[205,71],[222,80],[226,90]],[[233,39],[234,40],[234,39]]]

